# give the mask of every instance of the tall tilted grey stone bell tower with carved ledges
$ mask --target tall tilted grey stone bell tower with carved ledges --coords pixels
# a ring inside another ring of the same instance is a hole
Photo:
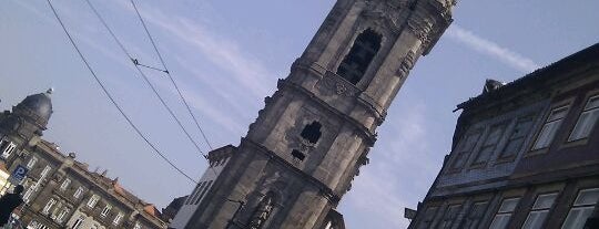
[[[338,0],[185,228],[324,228],[453,0]]]

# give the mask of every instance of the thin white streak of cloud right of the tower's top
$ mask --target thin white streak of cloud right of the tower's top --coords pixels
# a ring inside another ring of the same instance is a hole
[[[534,70],[539,69],[539,64],[529,58],[526,58],[507,48],[502,48],[496,42],[480,38],[474,32],[457,24],[451,24],[446,34],[448,38],[461,42],[478,52],[496,58],[497,60],[519,71],[532,72]]]

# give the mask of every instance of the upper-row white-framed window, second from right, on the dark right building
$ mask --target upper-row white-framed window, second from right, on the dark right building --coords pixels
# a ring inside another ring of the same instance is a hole
[[[568,114],[568,107],[569,106],[560,106],[551,110],[551,113],[549,113],[547,121],[542,125],[539,136],[537,136],[532,150],[549,147],[549,144],[551,144],[551,140],[554,140],[564,117],[566,117]]]

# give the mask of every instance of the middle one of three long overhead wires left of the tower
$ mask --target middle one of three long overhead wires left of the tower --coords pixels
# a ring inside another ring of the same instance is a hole
[[[98,17],[98,19],[100,20],[100,22],[102,23],[102,25],[109,31],[110,35],[112,37],[112,39],[119,44],[119,48],[121,49],[121,51],[123,51],[123,53],[133,62],[133,65],[135,66],[135,69],[138,70],[138,72],[140,73],[140,75],[142,76],[142,79],[144,80],[144,82],[148,84],[148,86],[150,86],[150,89],[152,90],[152,92],[154,92],[154,94],[156,95],[156,97],[159,98],[159,101],[161,102],[162,106],[164,106],[164,108],[169,112],[169,114],[171,115],[171,117],[176,122],[176,124],[179,125],[179,127],[181,128],[181,131],[183,131],[183,133],[185,134],[185,136],[187,136],[189,140],[192,142],[192,144],[195,146],[195,149],[204,157],[207,159],[207,156],[204,154],[204,152],[200,148],[200,146],[197,145],[197,143],[193,139],[193,137],[190,135],[190,133],[187,132],[187,129],[183,126],[183,124],[181,123],[181,121],[179,119],[179,117],[176,117],[176,115],[174,114],[173,110],[169,106],[169,104],[166,104],[166,102],[164,101],[164,98],[160,95],[160,93],[158,92],[156,87],[152,84],[152,82],[150,82],[150,79],[145,75],[145,73],[143,73],[143,71],[140,69],[140,64],[139,64],[139,61],[138,59],[134,59],[133,55],[131,55],[131,53],[129,53],[129,51],[124,48],[123,43],[121,42],[121,40],[119,40],[119,38],[116,37],[116,34],[114,34],[114,32],[112,31],[112,29],[108,25],[106,21],[104,20],[104,18],[102,18],[102,15],[100,15],[100,13],[98,12],[98,10],[95,9],[95,7],[93,7],[93,4],[91,3],[90,0],[85,0],[88,2],[88,4],[90,6],[90,8],[92,9],[93,13]]]

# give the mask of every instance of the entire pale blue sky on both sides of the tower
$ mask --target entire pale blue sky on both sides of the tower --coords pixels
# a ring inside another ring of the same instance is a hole
[[[169,158],[199,177],[206,162],[84,1],[54,0],[67,27],[133,122]],[[92,0],[142,63],[160,66],[129,1]],[[213,146],[236,145],[288,74],[333,0],[138,1],[165,62]],[[459,1],[454,24],[412,71],[378,129],[352,191],[339,209],[348,228],[405,228],[438,173],[458,113],[485,79],[505,82],[598,42],[599,1]],[[145,71],[192,135],[200,134],[165,75]],[[44,137],[75,152],[90,168],[164,207],[192,184],[131,131],[93,82],[44,0],[0,1],[0,108],[54,87],[54,114]],[[207,146],[201,147],[207,150]]]

